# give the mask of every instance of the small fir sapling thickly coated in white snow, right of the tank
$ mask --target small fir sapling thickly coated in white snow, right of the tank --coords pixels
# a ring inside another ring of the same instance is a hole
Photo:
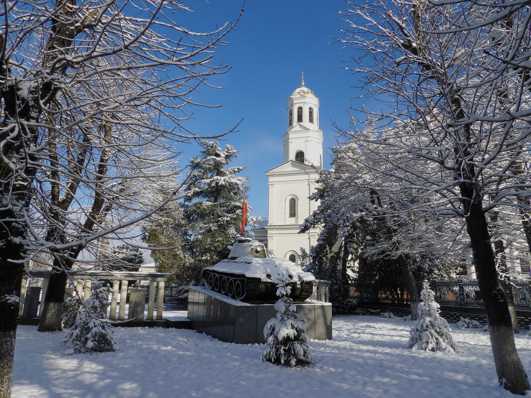
[[[450,326],[439,315],[439,304],[430,285],[424,282],[421,302],[418,304],[418,319],[411,330],[409,348],[424,351],[462,352],[453,340]]]

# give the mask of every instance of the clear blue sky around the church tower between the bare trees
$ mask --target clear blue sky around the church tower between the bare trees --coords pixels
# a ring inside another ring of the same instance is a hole
[[[237,19],[242,1],[210,0],[190,2],[194,13],[186,13],[176,22],[184,27],[205,30]],[[264,172],[282,163],[282,134],[286,132],[286,101],[305,85],[320,101],[320,128],[324,136],[324,166],[329,167],[329,148],[338,136],[332,121],[348,128],[349,107],[361,108],[365,102],[352,99],[359,92],[352,88],[356,76],[341,69],[341,61],[353,49],[340,50],[329,44],[346,23],[338,11],[345,10],[344,0],[259,1],[247,0],[237,30],[228,36],[232,44],[218,49],[215,63],[232,69],[210,80],[222,89],[202,89],[195,100],[216,109],[195,109],[194,119],[185,123],[196,134],[215,134],[229,130],[243,118],[238,132],[220,141],[237,149],[234,166],[244,166],[249,176],[247,203],[254,207],[250,215],[267,217],[268,180]],[[180,144],[182,165],[199,152],[199,145]]]

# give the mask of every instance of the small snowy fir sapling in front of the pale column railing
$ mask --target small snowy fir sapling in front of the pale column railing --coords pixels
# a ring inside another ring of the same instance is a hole
[[[105,322],[110,288],[104,282],[93,282],[90,298],[78,309],[73,326],[66,333],[63,345],[70,346],[66,353],[115,351],[114,327]]]

